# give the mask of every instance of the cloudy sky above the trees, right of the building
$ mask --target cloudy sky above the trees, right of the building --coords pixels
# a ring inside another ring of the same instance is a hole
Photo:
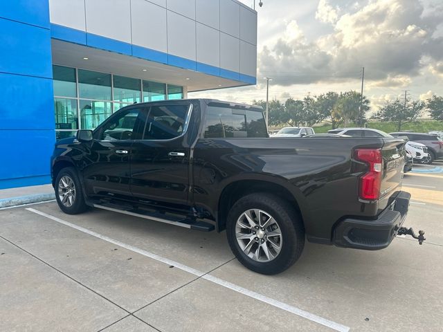
[[[443,95],[442,0],[262,0],[256,3],[257,85],[189,93],[251,103],[361,90],[386,100]],[[241,0],[252,6],[253,0]]]

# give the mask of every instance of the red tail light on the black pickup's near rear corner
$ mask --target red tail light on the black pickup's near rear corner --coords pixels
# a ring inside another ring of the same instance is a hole
[[[356,149],[356,159],[368,165],[368,172],[360,177],[360,198],[376,200],[380,197],[382,158],[381,149]]]

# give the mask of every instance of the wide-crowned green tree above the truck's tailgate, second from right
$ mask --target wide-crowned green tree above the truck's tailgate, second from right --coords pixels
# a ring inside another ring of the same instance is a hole
[[[426,103],[421,100],[408,100],[405,107],[404,101],[397,99],[388,101],[379,107],[379,110],[372,118],[381,121],[395,122],[397,124],[397,130],[401,131],[401,126],[417,120],[417,118],[422,115],[425,107]]]

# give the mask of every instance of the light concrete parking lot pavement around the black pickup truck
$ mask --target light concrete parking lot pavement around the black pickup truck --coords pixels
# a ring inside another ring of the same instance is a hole
[[[423,246],[307,243],[275,276],[241,266],[224,232],[55,202],[1,210],[0,331],[442,331],[443,163],[404,190]]]

